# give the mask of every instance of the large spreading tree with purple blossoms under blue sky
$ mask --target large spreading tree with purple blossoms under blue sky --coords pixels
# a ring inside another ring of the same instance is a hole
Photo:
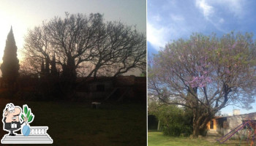
[[[168,43],[148,65],[148,94],[193,112],[193,136],[230,104],[250,108],[255,98],[252,34],[193,34]]]

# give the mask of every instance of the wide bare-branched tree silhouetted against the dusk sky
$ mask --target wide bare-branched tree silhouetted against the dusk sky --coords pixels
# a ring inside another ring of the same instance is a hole
[[[146,70],[146,36],[121,22],[106,23],[99,13],[66,13],[64,19],[56,17],[29,30],[23,54],[31,71],[38,72],[44,58],[72,84],[78,75],[86,80]]]

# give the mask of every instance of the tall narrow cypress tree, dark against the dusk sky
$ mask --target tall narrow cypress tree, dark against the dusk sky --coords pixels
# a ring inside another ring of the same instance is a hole
[[[11,30],[7,36],[4,48],[3,64],[1,64],[1,76],[4,82],[9,86],[13,86],[18,78],[18,70],[20,69],[19,60],[17,58],[17,46]]]

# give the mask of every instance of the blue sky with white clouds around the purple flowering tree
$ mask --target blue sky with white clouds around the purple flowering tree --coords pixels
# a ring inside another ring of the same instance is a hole
[[[193,32],[205,35],[212,32],[222,37],[230,31],[252,32],[256,35],[256,1],[252,0],[148,0],[148,53],[157,53],[167,42],[187,39]],[[254,37],[256,38],[256,37]],[[222,113],[240,109],[241,114],[256,112],[228,106]]]

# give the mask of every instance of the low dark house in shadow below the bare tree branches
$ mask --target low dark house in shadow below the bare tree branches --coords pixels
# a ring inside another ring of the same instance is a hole
[[[82,79],[78,79],[82,80]],[[78,81],[79,82],[79,81]],[[92,100],[142,101],[146,103],[146,77],[89,77],[76,89],[77,96]]]

